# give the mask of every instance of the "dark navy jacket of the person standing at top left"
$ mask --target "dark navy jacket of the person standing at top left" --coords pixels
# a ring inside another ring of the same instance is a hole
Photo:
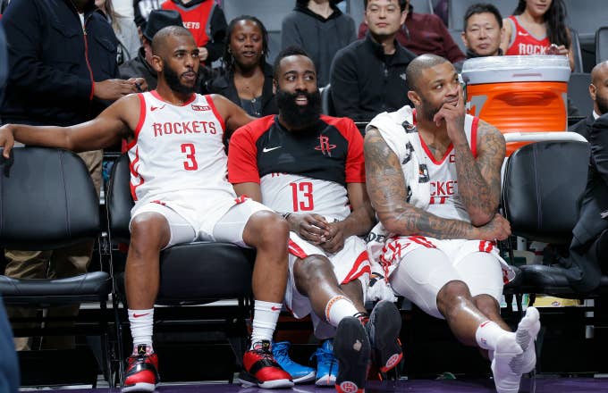
[[[93,80],[116,78],[117,40],[93,0],[83,34],[70,0],[13,0],[2,18],[11,70],[2,121],[68,126],[88,121],[106,102]]]

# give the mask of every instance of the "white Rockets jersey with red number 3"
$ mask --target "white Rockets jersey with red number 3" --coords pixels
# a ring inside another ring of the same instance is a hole
[[[224,214],[236,194],[226,180],[224,120],[211,97],[192,95],[179,106],[155,90],[139,94],[139,104],[139,124],[128,145],[136,205],[196,206]]]

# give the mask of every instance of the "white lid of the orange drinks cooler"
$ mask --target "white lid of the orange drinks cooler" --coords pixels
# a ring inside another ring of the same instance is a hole
[[[570,63],[562,55],[486,56],[462,64],[466,84],[568,82]]]

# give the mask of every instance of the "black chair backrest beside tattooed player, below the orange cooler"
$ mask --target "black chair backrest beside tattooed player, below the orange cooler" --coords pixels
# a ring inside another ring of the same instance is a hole
[[[543,141],[516,150],[502,182],[502,207],[513,234],[569,244],[588,165],[587,142]]]

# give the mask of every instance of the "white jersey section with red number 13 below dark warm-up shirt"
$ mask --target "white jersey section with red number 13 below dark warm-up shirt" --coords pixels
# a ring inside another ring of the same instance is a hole
[[[317,213],[344,220],[350,214],[346,188],[329,180],[288,173],[270,173],[260,179],[264,205],[277,212]]]

